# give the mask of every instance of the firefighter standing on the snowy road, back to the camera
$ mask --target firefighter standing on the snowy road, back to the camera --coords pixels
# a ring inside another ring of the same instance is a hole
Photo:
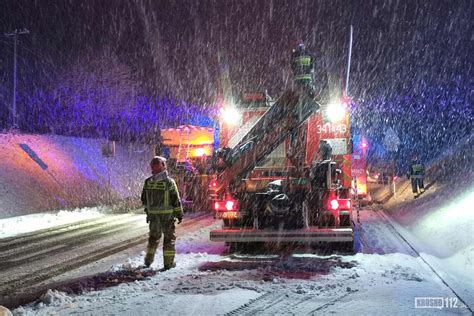
[[[163,234],[164,270],[175,267],[175,220],[183,220],[183,208],[175,181],[168,176],[166,159],[156,156],[151,161],[152,176],[145,180],[141,200],[150,226],[145,266],[155,259],[155,252]]]

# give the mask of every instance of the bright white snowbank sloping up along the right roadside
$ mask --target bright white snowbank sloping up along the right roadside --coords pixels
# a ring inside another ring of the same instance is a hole
[[[474,137],[428,166],[427,191],[413,198],[408,181],[385,207],[397,228],[474,306]]]

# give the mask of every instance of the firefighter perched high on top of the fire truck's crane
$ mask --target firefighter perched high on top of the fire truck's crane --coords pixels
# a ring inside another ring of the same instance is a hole
[[[299,44],[291,55],[291,69],[293,70],[294,82],[308,95],[314,98],[313,82],[313,56],[306,51],[304,44]]]

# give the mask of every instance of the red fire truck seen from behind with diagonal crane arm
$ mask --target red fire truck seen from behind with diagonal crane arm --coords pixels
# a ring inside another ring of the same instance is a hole
[[[239,109],[227,111],[235,117]],[[245,131],[232,141],[226,136],[227,147],[214,157],[211,205],[223,227],[210,239],[336,242],[352,249],[351,141],[343,102],[321,106],[304,91],[288,90],[256,108],[258,114],[246,111],[238,123]]]

